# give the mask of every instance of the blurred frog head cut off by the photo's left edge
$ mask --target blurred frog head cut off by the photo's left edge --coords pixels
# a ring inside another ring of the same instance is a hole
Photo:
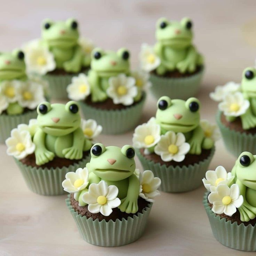
[[[0,53],[0,80],[24,77],[26,77],[26,65],[23,51],[15,49],[11,53]]]

